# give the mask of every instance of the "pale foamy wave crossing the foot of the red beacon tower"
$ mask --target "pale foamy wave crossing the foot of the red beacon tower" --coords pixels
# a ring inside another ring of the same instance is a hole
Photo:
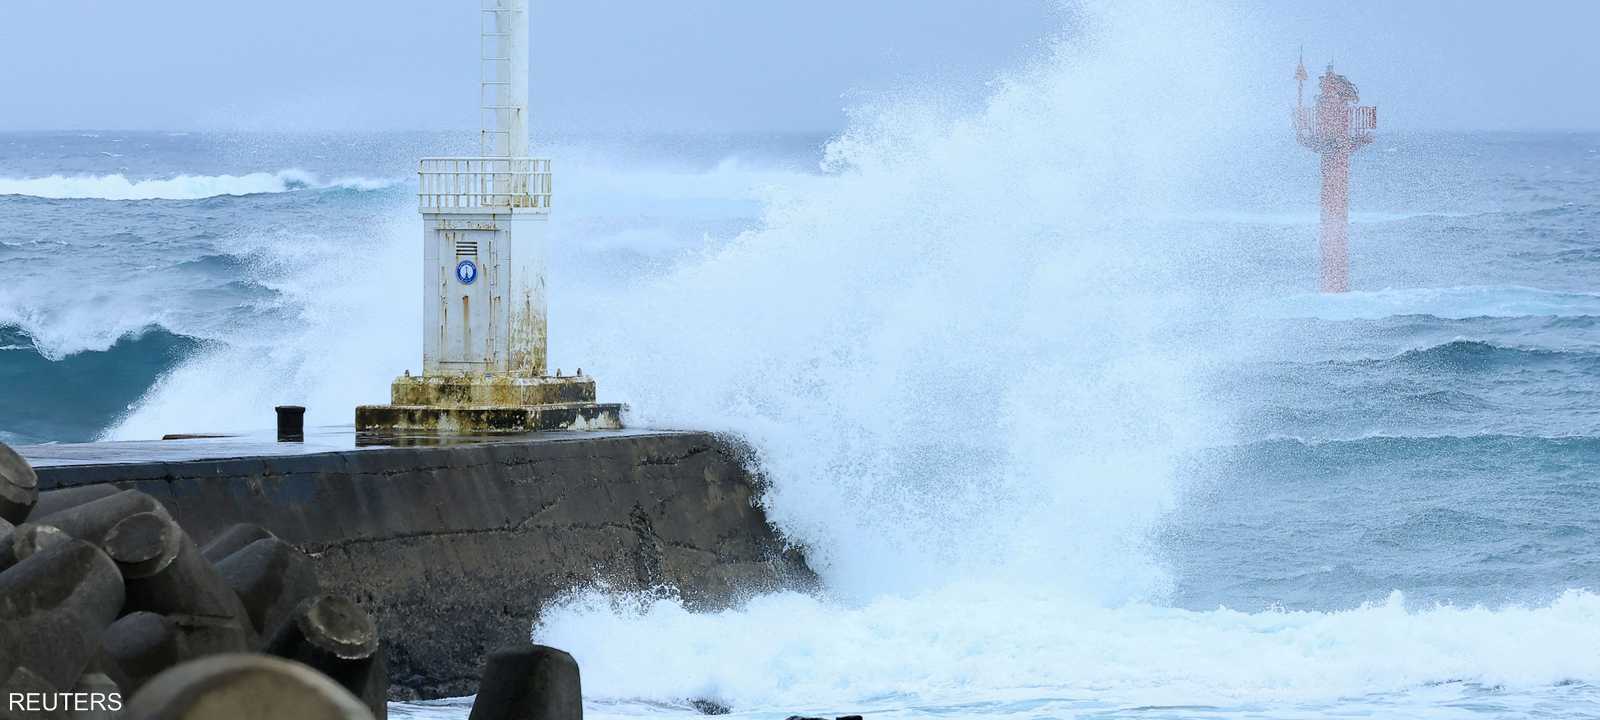
[[[1600,294],[1525,286],[1390,288],[1354,293],[1307,293],[1253,309],[1267,318],[1381,320],[1397,315],[1586,317],[1600,315]]]

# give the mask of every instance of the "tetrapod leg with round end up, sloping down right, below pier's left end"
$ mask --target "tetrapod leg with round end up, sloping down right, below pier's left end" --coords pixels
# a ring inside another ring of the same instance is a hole
[[[250,614],[189,534],[165,512],[136,512],[106,533],[106,552],[126,581],[126,610],[234,622],[254,643]]]

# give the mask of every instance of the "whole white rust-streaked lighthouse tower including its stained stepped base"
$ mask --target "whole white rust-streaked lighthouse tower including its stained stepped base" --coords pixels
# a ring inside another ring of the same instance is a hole
[[[528,0],[482,0],[478,157],[426,157],[422,374],[357,430],[525,432],[621,427],[594,379],[550,376],[544,242],[550,160],[528,154]]]

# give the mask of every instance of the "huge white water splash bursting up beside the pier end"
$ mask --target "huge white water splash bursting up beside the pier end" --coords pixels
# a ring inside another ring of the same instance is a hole
[[[755,443],[771,517],[835,592],[1165,587],[1139,546],[1216,421],[1181,331],[1194,250],[1147,218],[1214,139],[1192,114],[1230,102],[1222,27],[1080,19],[976,115],[859,112],[760,229],[568,325],[640,421]]]

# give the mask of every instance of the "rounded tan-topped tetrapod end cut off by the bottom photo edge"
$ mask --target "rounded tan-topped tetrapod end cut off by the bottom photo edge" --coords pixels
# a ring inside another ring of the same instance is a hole
[[[218,654],[154,677],[128,702],[130,720],[371,720],[339,683],[266,654]]]

